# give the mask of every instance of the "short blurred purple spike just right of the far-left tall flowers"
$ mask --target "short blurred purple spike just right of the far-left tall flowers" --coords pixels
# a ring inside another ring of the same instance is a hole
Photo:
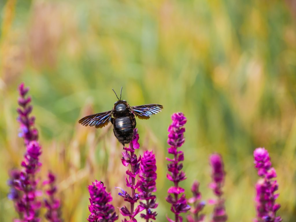
[[[47,209],[45,218],[51,222],[61,222],[61,213],[59,210],[60,201],[54,197],[54,194],[57,192],[57,187],[54,185],[55,176],[53,173],[49,172],[47,177],[48,179],[42,183],[43,185],[49,186],[49,188],[45,191],[48,195],[48,198],[44,200],[44,205]]]

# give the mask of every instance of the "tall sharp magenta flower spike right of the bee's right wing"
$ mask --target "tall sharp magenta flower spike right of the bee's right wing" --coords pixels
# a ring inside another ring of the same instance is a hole
[[[173,123],[168,127],[168,153],[173,154],[173,159],[166,158],[170,163],[168,164],[167,178],[174,183],[174,186],[168,189],[168,196],[166,201],[171,204],[170,210],[175,214],[175,220],[170,219],[167,216],[167,220],[170,222],[182,222],[183,217],[180,216],[180,213],[186,213],[190,206],[187,204],[186,197],[184,194],[184,189],[179,186],[179,182],[186,179],[183,168],[183,164],[180,163],[184,161],[183,151],[178,151],[177,148],[181,147],[184,143],[184,132],[185,128],[183,127],[187,121],[183,113],[178,112],[172,115]],[[183,193],[183,194],[182,194]],[[181,197],[179,197],[181,194]]]

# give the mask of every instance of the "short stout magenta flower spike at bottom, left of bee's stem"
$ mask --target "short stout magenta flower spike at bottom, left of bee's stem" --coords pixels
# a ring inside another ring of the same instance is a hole
[[[109,202],[112,201],[110,193],[102,181],[95,181],[89,185],[89,222],[113,222],[118,219],[115,209]]]

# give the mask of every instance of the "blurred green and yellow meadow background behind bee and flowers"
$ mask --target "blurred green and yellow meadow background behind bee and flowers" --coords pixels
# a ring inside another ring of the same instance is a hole
[[[140,153],[152,149],[157,157],[157,221],[171,216],[166,140],[178,111],[188,118],[187,197],[194,180],[204,200],[213,197],[208,157],[219,152],[228,221],[252,221],[252,152],[266,147],[278,174],[278,215],[295,221],[295,1],[0,0],[0,13],[0,221],[17,215],[6,181],[25,152],[15,111],[21,82],[30,87],[43,147],[38,176],[57,175],[65,221],[86,221],[87,185],[95,179],[123,206],[115,187],[125,186],[126,169],[112,125],[78,125],[84,115],[112,109],[111,88],[121,86],[130,105],[164,106],[137,120]],[[207,221],[212,210],[205,207]]]

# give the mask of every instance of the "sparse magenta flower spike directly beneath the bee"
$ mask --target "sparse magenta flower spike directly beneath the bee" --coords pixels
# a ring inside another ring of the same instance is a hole
[[[121,197],[123,197],[124,201],[130,203],[130,210],[126,206],[123,206],[119,209],[120,213],[125,216],[129,217],[129,220],[124,219],[124,221],[136,222],[135,216],[140,212],[140,207],[137,206],[134,209],[135,203],[139,200],[139,194],[135,193],[135,190],[140,186],[141,182],[137,181],[135,184],[136,176],[139,174],[140,171],[140,161],[141,156],[137,158],[135,154],[135,149],[140,148],[140,144],[138,143],[139,134],[138,129],[134,129],[133,131],[133,140],[129,143],[129,148],[124,147],[123,149],[125,152],[122,152],[121,162],[124,166],[128,167],[131,165],[131,170],[126,170],[126,186],[131,188],[131,194],[126,192],[125,190],[121,189],[121,192],[118,193]]]

